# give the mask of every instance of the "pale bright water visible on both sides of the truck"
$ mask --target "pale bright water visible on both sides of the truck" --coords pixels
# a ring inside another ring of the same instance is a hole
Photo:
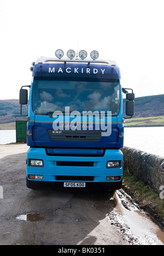
[[[125,127],[124,146],[164,157],[164,126]],[[0,144],[16,142],[15,130],[0,130]]]

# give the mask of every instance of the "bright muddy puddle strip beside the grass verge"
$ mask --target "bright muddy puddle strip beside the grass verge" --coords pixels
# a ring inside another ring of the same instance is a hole
[[[132,245],[164,245],[164,232],[136,203],[128,200],[125,191],[117,191],[115,209],[108,216]]]

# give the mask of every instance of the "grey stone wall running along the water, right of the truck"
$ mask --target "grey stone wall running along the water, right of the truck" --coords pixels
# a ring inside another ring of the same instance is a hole
[[[128,147],[121,150],[124,167],[159,194],[164,185],[164,158]]]

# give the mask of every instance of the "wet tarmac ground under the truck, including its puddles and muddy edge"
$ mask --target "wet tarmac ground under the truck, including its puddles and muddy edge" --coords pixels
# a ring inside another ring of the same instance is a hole
[[[26,188],[26,151],[0,146],[0,245],[164,245],[162,227],[122,189]]]

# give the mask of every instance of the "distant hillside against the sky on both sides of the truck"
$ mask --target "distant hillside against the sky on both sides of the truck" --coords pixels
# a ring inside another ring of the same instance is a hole
[[[124,109],[125,101],[124,99]],[[135,99],[134,118],[160,115],[164,115],[164,94]],[[15,120],[26,120],[20,115],[19,100],[0,100],[0,124],[13,123]]]

